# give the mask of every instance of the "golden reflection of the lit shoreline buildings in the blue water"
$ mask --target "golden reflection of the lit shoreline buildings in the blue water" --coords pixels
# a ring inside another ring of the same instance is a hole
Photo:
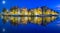
[[[47,24],[50,23],[51,21],[56,19],[56,16],[52,17],[7,17],[4,16],[3,18],[3,23],[7,23],[7,21],[10,21],[11,24],[27,24],[29,22],[34,23],[34,24]]]

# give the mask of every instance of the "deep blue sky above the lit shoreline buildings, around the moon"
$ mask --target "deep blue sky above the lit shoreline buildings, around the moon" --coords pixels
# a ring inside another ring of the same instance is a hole
[[[2,1],[6,3],[3,4]],[[60,0],[0,0],[0,9],[11,8],[13,6],[18,6],[20,8],[36,8],[41,6],[47,6],[52,9],[57,9],[56,6],[60,5]]]

